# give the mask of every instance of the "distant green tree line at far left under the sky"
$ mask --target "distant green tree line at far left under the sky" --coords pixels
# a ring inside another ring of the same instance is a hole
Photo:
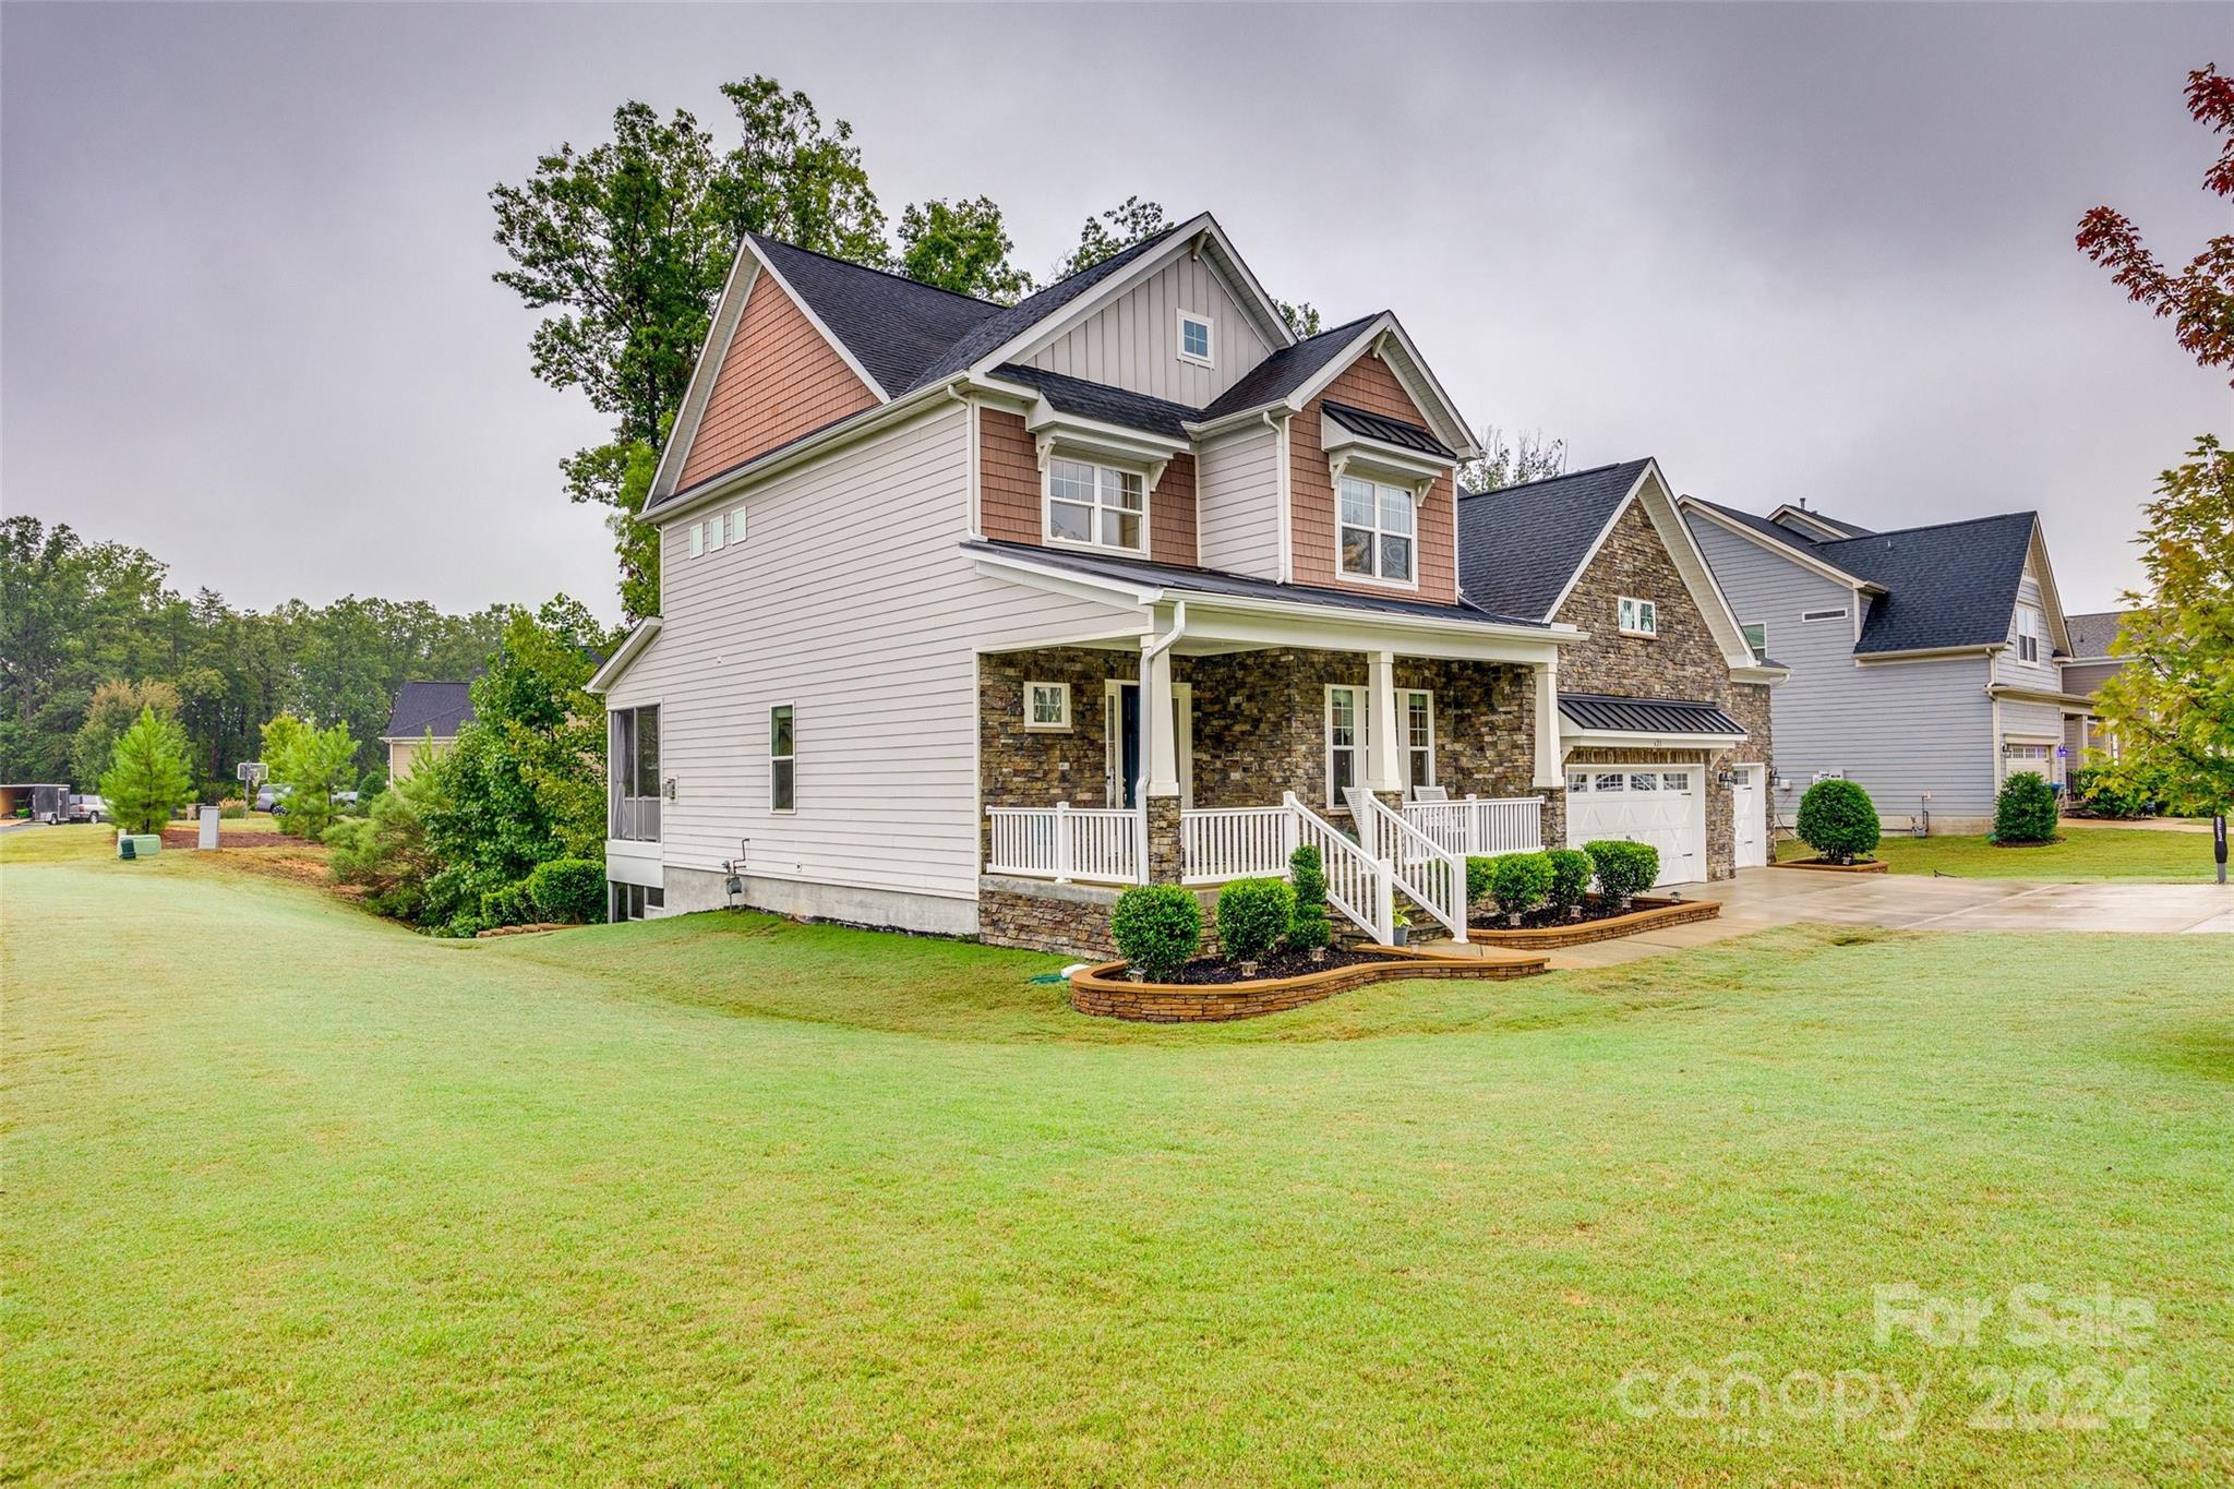
[[[94,790],[116,741],[152,710],[179,726],[194,795],[235,790],[281,714],[342,726],[351,786],[384,775],[380,732],[409,679],[480,670],[505,609],[449,616],[424,601],[288,601],[235,609],[181,596],[168,567],[67,525],[0,520],[0,779]]]

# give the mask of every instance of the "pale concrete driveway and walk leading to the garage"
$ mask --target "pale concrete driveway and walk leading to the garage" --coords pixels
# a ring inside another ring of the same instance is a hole
[[[1736,880],[1684,884],[1678,893],[1687,900],[1720,900],[1722,913],[1687,926],[1555,951],[1550,964],[1611,967],[1798,920],[1894,931],[2234,933],[2234,886],[2216,884],[2024,884],[1747,868]]]

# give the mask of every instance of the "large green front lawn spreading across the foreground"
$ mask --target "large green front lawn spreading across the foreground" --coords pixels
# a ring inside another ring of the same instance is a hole
[[[967,944],[445,944],[212,855],[25,853],[11,1478],[2234,1473],[2221,938],[1798,929],[1148,1029]],[[2156,1324],[1879,1344],[1877,1284]],[[1801,1411],[1848,1371],[1848,1420],[1678,1415],[1687,1366]],[[2062,1420],[2131,1368],[2145,1424]],[[1979,1371],[2033,1415],[1975,1418]]]

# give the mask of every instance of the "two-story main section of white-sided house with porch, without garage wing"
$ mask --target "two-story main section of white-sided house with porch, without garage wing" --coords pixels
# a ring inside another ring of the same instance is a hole
[[[1309,842],[1463,935],[1459,859],[1557,842],[1588,641],[1461,592],[1472,453],[1392,313],[1298,339],[1209,214],[1016,306],[751,237],[592,681],[614,913],[1095,947]]]

